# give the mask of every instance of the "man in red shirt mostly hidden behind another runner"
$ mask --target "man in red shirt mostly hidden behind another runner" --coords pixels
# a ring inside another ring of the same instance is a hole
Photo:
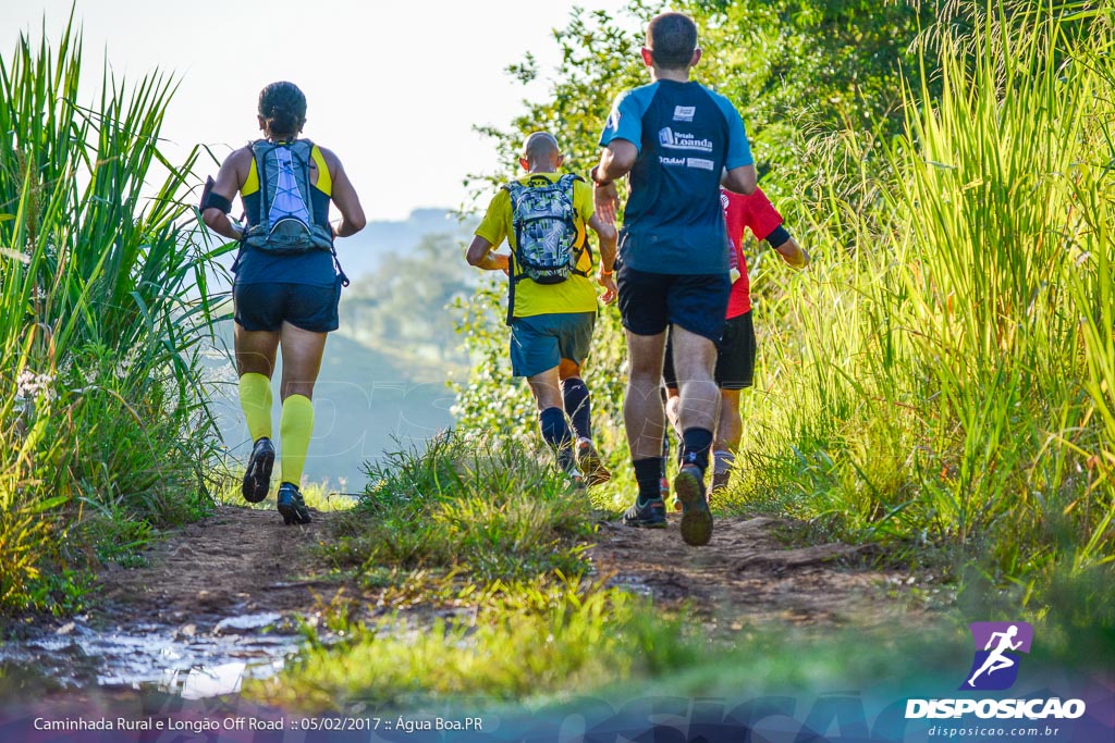
[[[783,226],[782,215],[774,208],[762,189],[749,195],[720,189],[720,205],[728,226],[728,238],[735,252],[735,265],[739,266],[739,277],[731,285],[728,299],[727,324],[717,344],[715,379],[720,388],[720,417],[716,427],[714,449],[712,485],[710,491],[728,485],[728,476],[735,463],[736,450],[743,437],[743,420],[739,417],[739,391],[752,385],[755,371],[755,326],[752,323],[750,281],[747,277],[747,260],[744,257],[744,229],[750,229],[756,239],[765,239],[778,255],[795,268],[809,264],[809,255],[789,236]],[[662,378],[666,381],[668,400],[666,414],[673,428],[678,428],[678,383],[673,373],[672,351],[666,352]],[[663,473],[665,475],[665,473]]]

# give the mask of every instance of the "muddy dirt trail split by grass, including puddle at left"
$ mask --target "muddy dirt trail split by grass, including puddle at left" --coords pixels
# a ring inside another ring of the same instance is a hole
[[[220,506],[153,545],[145,567],[105,568],[88,616],[27,626],[21,643],[2,648],[0,671],[14,662],[58,680],[64,686],[47,695],[39,682],[26,686],[43,700],[106,688],[132,698],[137,684],[183,698],[234,692],[245,674],[266,675],[298,649],[294,615],[318,624],[313,615],[337,606],[339,593],[357,614],[391,610],[316,557],[338,516],[314,511],[310,525],[284,526],[271,509]],[[893,598],[906,576],[864,567],[862,548],[788,547],[794,530],[774,518],[719,518],[711,542],[694,548],[670,514],[665,530],[600,524],[589,557],[612,585],[662,606],[688,603],[709,630],[729,636],[772,623],[863,628],[919,613]]]

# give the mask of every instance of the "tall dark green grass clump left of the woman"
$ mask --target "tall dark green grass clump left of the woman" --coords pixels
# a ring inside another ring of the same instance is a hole
[[[74,608],[97,544],[206,502],[195,154],[159,151],[171,80],[80,70],[72,25],[0,59],[0,612]]]

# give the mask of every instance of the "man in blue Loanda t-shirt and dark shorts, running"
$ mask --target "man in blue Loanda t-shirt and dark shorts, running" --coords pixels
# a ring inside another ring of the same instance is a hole
[[[673,489],[689,545],[712,536],[705,470],[720,399],[712,380],[716,343],[731,287],[720,185],[741,194],[756,186],[739,114],[727,98],[689,80],[700,56],[697,27],[687,16],[650,21],[642,59],[651,82],[615,99],[592,169],[597,214],[604,221],[614,221],[619,206],[615,179],[629,177],[615,283],[630,358],[623,419],[639,496],[623,521],[666,526],[659,387],[670,329],[683,438]]]

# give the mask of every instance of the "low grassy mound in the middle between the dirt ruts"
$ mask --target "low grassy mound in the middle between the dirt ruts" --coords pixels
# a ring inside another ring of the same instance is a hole
[[[540,453],[447,433],[425,453],[391,454],[369,469],[367,491],[324,550],[372,580],[381,567],[463,573],[478,584],[583,573],[592,508]]]

